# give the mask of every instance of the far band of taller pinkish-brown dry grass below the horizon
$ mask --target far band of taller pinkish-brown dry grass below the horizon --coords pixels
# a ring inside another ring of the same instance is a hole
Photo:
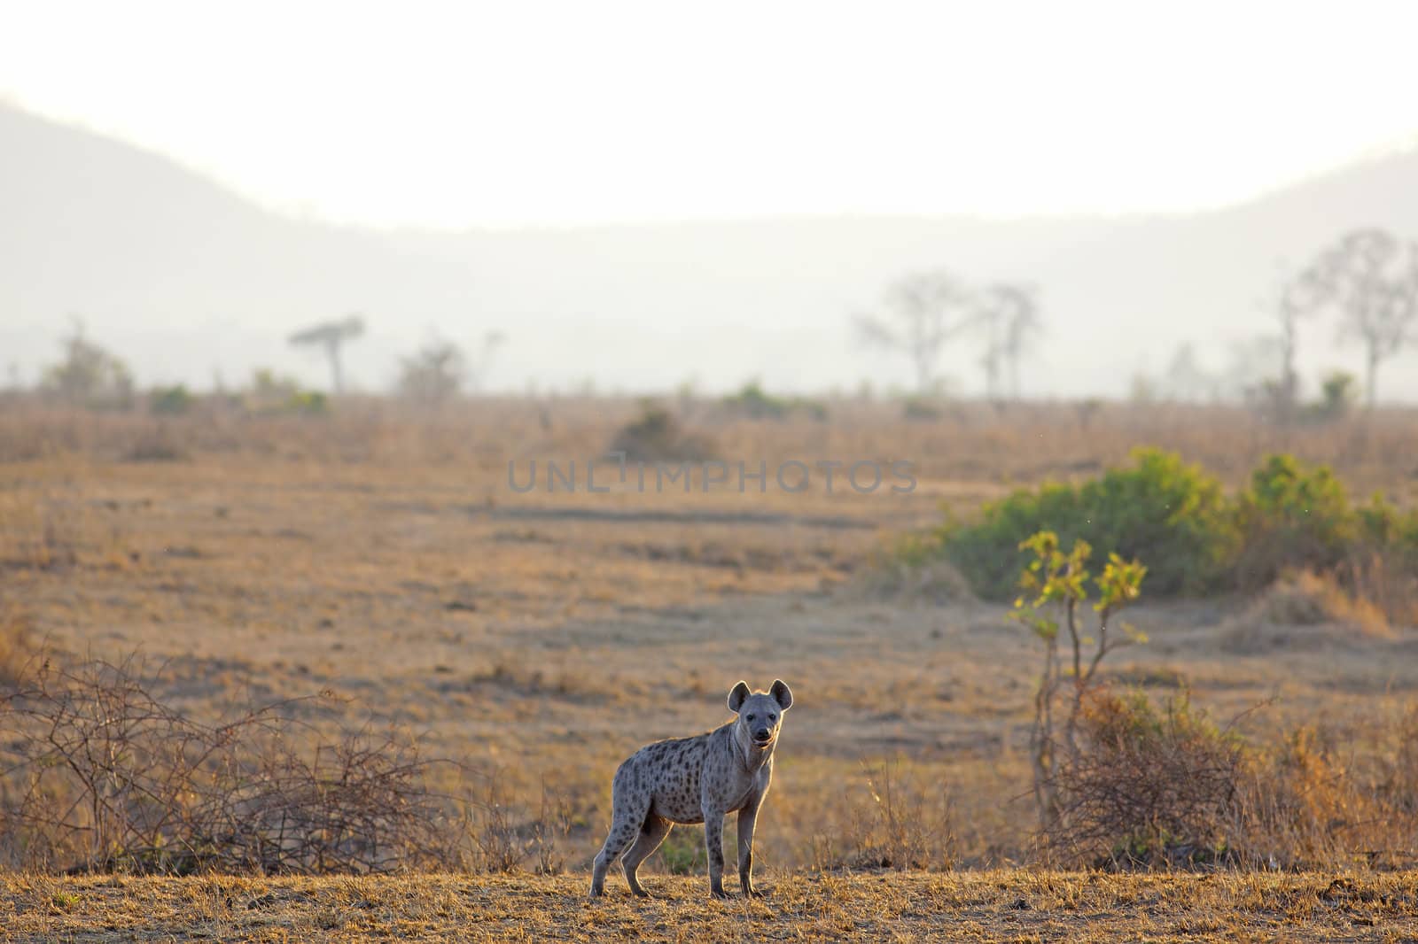
[[[1418,411],[1381,408],[1351,421],[1280,428],[1239,407],[1068,403],[949,404],[932,421],[908,420],[899,403],[830,398],[825,422],[800,414],[759,421],[715,401],[681,400],[674,420],[686,437],[712,441],[720,459],[912,459],[922,479],[950,483],[951,498],[1003,486],[1092,476],[1157,445],[1239,485],[1271,452],[1332,465],[1354,495],[1374,489],[1412,505],[1418,486],[1411,444]],[[666,400],[666,405],[668,400]],[[95,414],[18,401],[0,412],[0,462],[67,455],[155,463],[248,456],[277,462],[475,465],[505,476],[509,458],[601,455],[642,418],[630,398],[478,400],[435,412],[346,398],[330,415],[252,415],[203,405],[190,415]]]

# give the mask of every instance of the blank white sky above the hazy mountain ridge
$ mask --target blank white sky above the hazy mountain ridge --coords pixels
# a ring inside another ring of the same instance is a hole
[[[0,96],[374,225],[1177,211],[1418,132],[1414,3],[0,0]]]

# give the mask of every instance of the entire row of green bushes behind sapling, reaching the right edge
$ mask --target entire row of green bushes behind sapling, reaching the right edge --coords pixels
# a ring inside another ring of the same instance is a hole
[[[1119,561],[1146,557],[1147,587],[1164,597],[1254,590],[1286,570],[1343,575],[1375,558],[1390,575],[1418,575],[1418,510],[1400,512],[1381,496],[1353,507],[1327,466],[1271,455],[1228,499],[1214,476],[1173,454],[1139,449],[1133,456],[1132,468],[1082,485],[1017,490],[986,505],[973,523],[947,520],[903,541],[900,553],[944,556],[988,600],[1014,595],[1031,551],[1041,560],[1061,553],[1045,554],[1039,532],[1056,534],[1059,547],[1085,541]],[[1020,544],[1025,534],[1035,537]],[[1068,568],[1066,557],[1061,566]],[[1049,564],[1034,567],[1038,574]]]

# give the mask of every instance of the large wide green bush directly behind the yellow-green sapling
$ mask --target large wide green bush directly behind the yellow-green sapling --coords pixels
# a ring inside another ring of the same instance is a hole
[[[1105,554],[1147,558],[1147,585],[1159,595],[1215,588],[1236,546],[1221,483],[1161,449],[1137,449],[1133,459],[1134,468],[1082,486],[1045,485],[986,505],[978,523],[946,526],[946,557],[980,595],[1012,598],[1028,563],[1021,537],[1049,530],[1065,546],[1085,540]]]

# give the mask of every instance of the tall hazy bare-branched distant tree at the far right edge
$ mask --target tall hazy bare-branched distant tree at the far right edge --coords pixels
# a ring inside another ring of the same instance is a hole
[[[1354,230],[1320,252],[1300,281],[1312,305],[1339,309],[1340,337],[1364,346],[1364,398],[1373,408],[1378,366],[1412,340],[1418,322],[1418,244]]]

